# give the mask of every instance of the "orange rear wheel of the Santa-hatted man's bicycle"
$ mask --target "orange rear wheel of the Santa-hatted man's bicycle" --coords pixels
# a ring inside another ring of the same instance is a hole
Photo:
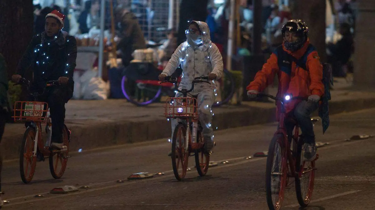
[[[63,128],[63,142],[67,147],[66,151],[50,152],[49,153],[49,171],[52,177],[55,179],[60,179],[66,169],[66,164],[68,163],[69,154],[69,133],[68,128],[64,125]]]

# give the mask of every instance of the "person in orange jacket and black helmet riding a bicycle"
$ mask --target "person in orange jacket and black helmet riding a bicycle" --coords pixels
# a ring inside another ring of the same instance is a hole
[[[308,101],[293,100],[286,104],[285,111],[293,114],[303,134],[305,144],[304,159],[314,160],[317,146],[310,115],[319,107],[324,94],[323,66],[318,52],[308,38],[308,27],[301,20],[290,20],[282,26],[284,41],[272,53],[261,71],[257,72],[254,81],[246,88],[248,96],[254,99],[273,82],[278,75],[278,97],[284,94],[308,98]],[[280,104],[278,104],[278,110]],[[292,135],[294,125],[285,124],[288,136]]]

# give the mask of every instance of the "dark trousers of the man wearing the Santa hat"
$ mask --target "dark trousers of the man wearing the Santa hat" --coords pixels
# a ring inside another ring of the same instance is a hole
[[[38,101],[48,103],[52,120],[51,142],[63,143],[62,134],[65,122],[65,104],[72,96],[72,86],[56,86],[46,88],[45,93],[38,99]],[[28,124],[26,124],[26,126],[27,125]]]

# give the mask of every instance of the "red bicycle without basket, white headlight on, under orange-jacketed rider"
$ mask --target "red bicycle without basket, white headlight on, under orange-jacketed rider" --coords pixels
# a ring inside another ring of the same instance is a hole
[[[299,135],[299,125],[293,117],[286,115],[284,104],[294,99],[306,101],[307,98],[292,97],[291,95],[278,98],[264,93],[258,93],[257,96],[269,97],[281,102],[278,130],[271,140],[267,154],[266,197],[268,207],[270,210],[279,210],[281,208],[289,177],[294,178],[298,203],[301,207],[306,207],[311,200],[314,190],[315,161],[319,155],[317,154],[317,157],[313,161],[306,162],[303,160],[302,146],[304,142],[303,137]],[[284,126],[285,120],[295,125],[294,134],[289,137],[289,140],[287,130]],[[311,119],[311,121],[315,124],[318,120]],[[277,166],[274,167],[273,164],[275,163]],[[305,178],[307,173],[309,174],[307,177],[308,182],[304,185],[303,178]],[[273,186],[275,183],[278,186]]]

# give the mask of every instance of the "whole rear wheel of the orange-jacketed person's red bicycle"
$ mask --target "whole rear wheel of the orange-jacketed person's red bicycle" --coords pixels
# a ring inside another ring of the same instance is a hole
[[[306,207],[311,201],[314,191],[315,161],[303,161],[303,140],[299,139],[296,156],[296,172],[298,177],[294,179],[297,200],[301,207]]]

